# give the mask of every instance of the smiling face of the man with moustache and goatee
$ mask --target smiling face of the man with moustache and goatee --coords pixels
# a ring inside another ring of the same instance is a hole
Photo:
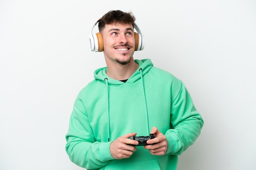
[[[106,24],[101,34],[106,61],[128,64],[135,51],[132,24]]]

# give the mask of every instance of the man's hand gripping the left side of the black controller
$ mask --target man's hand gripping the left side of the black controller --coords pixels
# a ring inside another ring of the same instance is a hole
[[[135,136],[137,133],[128,133],[121,137],[118,137],[115,141],[110,144],[110,154],[115,159],[129,158],[133,152],[136,151],[135,146],[128,144],[137,145],[138,141],[128,139],[128,137]]]

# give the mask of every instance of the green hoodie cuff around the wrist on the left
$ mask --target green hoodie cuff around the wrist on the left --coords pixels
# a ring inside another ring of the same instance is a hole
[[[101,143],[98,148],[99,158],[102,161],[110,161],[114,159],[110,154],[110,144],[111,142]]]

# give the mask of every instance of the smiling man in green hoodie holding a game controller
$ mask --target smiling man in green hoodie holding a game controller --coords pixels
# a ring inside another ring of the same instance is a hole
[[[134,60],[134,26],[135,17],[123,11],[99,20],[107,67],[77,96],[66,135],[67,154],[78,166],[175,170],[177,155],[200,135],[204,122],[182,81],[150,59]],[[155,138],[137,146],[133,137],[150,134]]]

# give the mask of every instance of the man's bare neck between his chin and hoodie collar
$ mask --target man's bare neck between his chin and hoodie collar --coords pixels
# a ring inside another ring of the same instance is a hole
[[[107,75],[115,80],[126,80],[139,68],[139,65],[132,59],[130,63],[121,65],[119,63],[108,64]]]

